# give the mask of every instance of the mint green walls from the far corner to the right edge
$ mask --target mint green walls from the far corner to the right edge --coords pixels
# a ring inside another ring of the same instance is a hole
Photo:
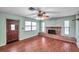
[[[79,47],[79,20],[75,20],[76,16],[67,16],[67,17],[62,17],[59,19],[56,18],[52,18],[50,20],[44,20],[44,21],[40,21],[40,32],[42,32],[42,22],[45,22],[45,27],[48,26],[61,26],[61,35],[64,35],[64,21],[65,20],[69,20],[70,21],[70,37],[75,37],[77,39],[77,46]],[[74,21],[72,21],[74,20]]]

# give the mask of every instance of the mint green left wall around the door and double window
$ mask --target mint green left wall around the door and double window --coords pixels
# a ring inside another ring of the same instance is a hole
[[[14,19],[19,20],[19,40],[29,38],[32,36],[35,36],[39,32],[39,21],[36,21],[34,19],[17,16],[13,14],[7,14],[7,13],[0,13],[0,46],[6,45],[6,19]],[[36,21],[37,22],[37,30],[35,31],[24,31],[24,21]]]

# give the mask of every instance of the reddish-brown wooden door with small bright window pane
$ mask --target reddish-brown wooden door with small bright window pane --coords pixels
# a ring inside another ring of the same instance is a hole
[[[6,20],[6,38],[7,43],[18,41],[19,39],[19,21],[7,19]]]

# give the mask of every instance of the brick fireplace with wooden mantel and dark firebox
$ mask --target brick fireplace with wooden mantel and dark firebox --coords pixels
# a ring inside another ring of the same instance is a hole
[[[46,27],[46,33],[61,35],[61,27]]]

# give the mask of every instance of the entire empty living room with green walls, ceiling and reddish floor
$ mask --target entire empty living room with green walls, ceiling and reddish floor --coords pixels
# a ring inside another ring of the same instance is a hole
[[[0,52],[78,52],[79,7],[0,7]]]

